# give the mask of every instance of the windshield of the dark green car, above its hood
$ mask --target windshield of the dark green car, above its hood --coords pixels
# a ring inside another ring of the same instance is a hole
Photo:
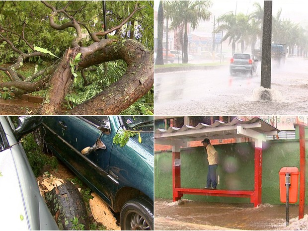
[[[154,116],[121,116],[127,130],[154,130]]]

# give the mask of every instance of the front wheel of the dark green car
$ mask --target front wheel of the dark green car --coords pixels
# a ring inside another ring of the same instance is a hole
[[[121,230],[154,230],[153,203],[138,197],[124,204],[120,213]]]

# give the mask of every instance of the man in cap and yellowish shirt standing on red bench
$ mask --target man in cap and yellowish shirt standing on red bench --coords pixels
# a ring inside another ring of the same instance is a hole
[[[211,145],[209,139],[206,138],[201,143],[203,143],[203,146],[205,147],[209,161],[208,179],[205,189],[215,190],[217,186],[216,169],[218,166],[218,154],[213,145]]]

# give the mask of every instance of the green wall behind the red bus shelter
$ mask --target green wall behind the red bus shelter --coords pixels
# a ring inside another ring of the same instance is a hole
[[[216,145],[219,154],[218,189],[253,190],[254,143]],[[306,141],[308,156],[308,143]],[[307,159],[307,158],[306,158]],[[308,160],[306,160],[308,161]],[[308,162],[307,162],[308,163]],[[281,204],[279,170],[284,166],[300,168],[299,140],[263,143],[262,203]],[[181,187],[204,188],[208,162],[203,147],[181,150]],[[306,170],[308,173],[308,169]],[[306,174],[308,175],[308,174]],[[155,197],[172,199],[172,152],[155,153]],[[308,179],[308,176],[306,176]],[[306,185],[308,183],[306,182]],[[306,187],[306,194],[308,188]],[[183,198],[209,202],[250,202],[248,198],[184,195]],[[306,196],[306,201],[308,198]]]

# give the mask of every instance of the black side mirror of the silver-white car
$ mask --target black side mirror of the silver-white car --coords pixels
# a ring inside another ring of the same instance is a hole
[[[41,116],[18,117],[17,128],[14,130],[16,139],[19,141],[21,137],[37,129],[42,122]]]

